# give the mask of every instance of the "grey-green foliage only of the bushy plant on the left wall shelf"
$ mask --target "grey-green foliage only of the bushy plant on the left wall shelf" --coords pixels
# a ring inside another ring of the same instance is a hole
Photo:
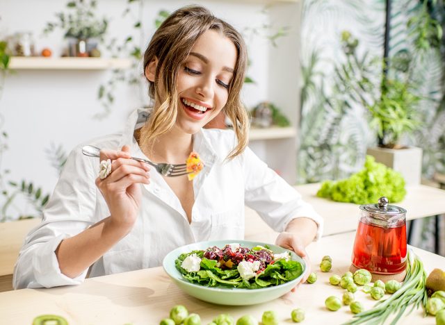
[[[103,40],[108,27],[108,19],[95,17],[96,0],[91,0],[89,3],[86,0],[69,1],[66,8],[67,12],[56,13],[57,22],[47,23],[44,33],[51,33],[55,28],[62,28],[65,30],[65,38]]]

